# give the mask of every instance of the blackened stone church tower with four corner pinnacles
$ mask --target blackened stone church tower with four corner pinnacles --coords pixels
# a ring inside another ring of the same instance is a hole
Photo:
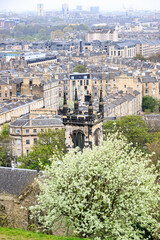
[[[104,107],[102,92],[100,92],[99,111],[93,111],[92,96],[90,94],[87,112],[79,110],[78,93],[75,89],[74,110],[68,111],[66,95],[64,94],[63,124],[65,126],[66,150],[75,147],[83,150],[84,147],[98,146],[102,141],[102,122]]]

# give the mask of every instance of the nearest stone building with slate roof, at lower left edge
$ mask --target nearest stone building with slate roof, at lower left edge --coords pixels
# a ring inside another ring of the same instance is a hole
[[[38,193],[37,177],[35,170],[0,167],[0,222],[3,226],[28,228],[29,207],[36,202]]]

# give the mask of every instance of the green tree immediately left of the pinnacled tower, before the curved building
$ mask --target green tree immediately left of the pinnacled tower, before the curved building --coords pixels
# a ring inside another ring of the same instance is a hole
[[[17,161],[21,168],[43,170],[46,165],[50,165],[50,158],[53,155],[61,158],[65,153],[65,136],[63,130],[51,130],[38,135],[37,144],[28,155],[19,157]]]

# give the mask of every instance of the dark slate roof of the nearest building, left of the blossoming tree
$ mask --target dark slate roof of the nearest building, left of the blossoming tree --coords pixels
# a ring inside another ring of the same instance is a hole
[[[0,167],[0,194],[19,196],[37,176],[36,170]]]

